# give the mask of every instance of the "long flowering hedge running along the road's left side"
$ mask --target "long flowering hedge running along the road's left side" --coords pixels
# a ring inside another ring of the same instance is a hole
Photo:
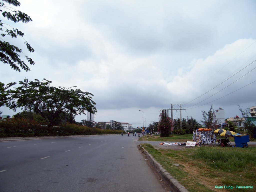
[[[101,130],[82,125],[70,124],[48,127],[27,119],[6,119],[0,121],[0,137],[32,137],[61,135],[121,134],[120,130]]]

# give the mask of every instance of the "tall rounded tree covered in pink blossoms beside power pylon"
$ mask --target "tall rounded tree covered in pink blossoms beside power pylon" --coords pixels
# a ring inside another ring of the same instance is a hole
[[[158,132],[160,137],[168,137],[173,131],[173,120],[166,115],[165,110],[162,110],[159,115]]]

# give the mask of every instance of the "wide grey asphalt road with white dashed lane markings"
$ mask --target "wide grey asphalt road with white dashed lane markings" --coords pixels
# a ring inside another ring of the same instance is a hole
[[[137,136],[0,142],[0,191],[168,191]]]

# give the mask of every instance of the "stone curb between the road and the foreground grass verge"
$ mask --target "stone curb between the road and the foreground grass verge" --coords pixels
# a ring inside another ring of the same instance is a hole
[[[156,171],[163,177],[165,182],[170,186],[173,191],[177,192],[189,192],[183,185],[179,184],[179,182],[171,176],[162,165],[160,165],[151,154],[149,154],[144,147],[139,144],[142,152],[147,157],[148,161],[153,165]]]

